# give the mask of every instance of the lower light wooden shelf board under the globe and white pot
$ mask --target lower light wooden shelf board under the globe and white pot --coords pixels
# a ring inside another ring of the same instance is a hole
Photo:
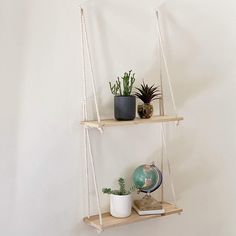
[[[107,213],[102,214],[103,225],[100,225],[98,215],[90,216],[89,218],[85,217],[84,222],[94,227],[98,231],[103,231],[104,229],[107,229],[107,228],[131,224],[134,222],[144,221],[144,220],[153,219],[157,217],[163,217],[166,215],[181,213],[183,211],[183,209],[177,208],[176,206],[168,202],[163,202],[162,206],[165,209],[165,213],[161,215],[140,216],[134,210],[132,210],[131,216],[127,218],[115,218],[111,216],[109,212],[107,212]]]

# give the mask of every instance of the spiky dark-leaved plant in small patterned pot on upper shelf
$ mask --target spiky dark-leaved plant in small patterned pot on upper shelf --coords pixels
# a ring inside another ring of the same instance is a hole
[[[149,86],[145,84],[144,81],[141,84],[140,88],[136,88],[138,91],[135,93],[135,96],[143,101],[142,105],[138,105],[138,114],[141,119],[151,118],[153,115],[153,105],[151,101],[160,99],[161,92],[158,87],[155,87],[154,84]]]

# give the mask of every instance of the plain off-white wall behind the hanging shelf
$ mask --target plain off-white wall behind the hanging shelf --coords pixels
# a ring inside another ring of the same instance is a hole
[[[158,78],[157,4],[91,0],[86,5],[103,116],[112,115],[108,81],[130,68],[137,81]],[[0,1],[2,236],[96,235],[82,223],[86,208],[77,6],[78,1],[65,0]],[[236,234],[235,8],[234,0],[172,0],[163,5],[165,48],[179,113],[185,117],[180,128],[170,127],[168,145],[184,213],[104,235]],[[156,158],[158,132],[158,125],[111,128],[102,137],[94,132],[100,187],[113,185],[121,175],[129,178],[136,165]],[[91,194],[95,205],[93,189]],[[105,210],[108,198],[101,197]]]

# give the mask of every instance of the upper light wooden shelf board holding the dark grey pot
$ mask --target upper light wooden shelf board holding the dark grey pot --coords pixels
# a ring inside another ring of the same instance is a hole
[[[148,123],[158,123],[158,122],[170,122],[170,121],[181,121],[183,117],[176,116],[153,116],[150,119],[140,119],[136,118],[134,120],[128,121],[117,121],[115,119],[101,120],[99,123],[97,120],[82,121],[81,124],[90,128],[100,128],[100,127],[111,127],[111,126],[123,126],[123,125],[139,125]]]

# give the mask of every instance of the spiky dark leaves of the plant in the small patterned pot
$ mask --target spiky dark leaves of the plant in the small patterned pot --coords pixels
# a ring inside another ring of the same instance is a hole
[[[153,100],[157,100],[161,98],[161,91],[159,90],[159,86],[155,87],[155,84],[149,86],[145,84],[144,81],[141,84],[140,88],[136,88],[138,91],[134,94],[144,103],[149,104]]]

